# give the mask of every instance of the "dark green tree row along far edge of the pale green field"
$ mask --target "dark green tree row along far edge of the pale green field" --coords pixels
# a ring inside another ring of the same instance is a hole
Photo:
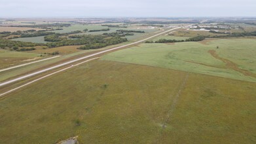
[[[176,39],[159,39],[155,41],[155,43],[179,43],[179,42],[187,42],[187,41],[203,41],[206,37],[202,35],[198,35],[196,37],[191,37],[185,40],[176,40]],[[153,41],[146,41],[145,43],[154,43]]]

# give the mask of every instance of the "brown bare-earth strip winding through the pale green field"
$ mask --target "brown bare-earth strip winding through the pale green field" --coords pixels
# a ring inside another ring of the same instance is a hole
[[[256,74],[255,74],[255,73],[251,73],[251,72],[246,71],[246,70],[244,70],[244,69],[240,69],[236,63],[231,62],[230,60],[227,60],[227,59],[225,59],[225,58],[219,57],[219,55],[216,54],[216,51],[215,51],[215,50],[209,50],[208,52],[209,52],[209,53],[211,54],[211,56],[213,56],[214,58],[216,58],[216,59],[218,59],[218,60],[221,60],[222,62],[226,63],[226,67],[225,67],[226,69],[232,69],[232,70],[234,70],[234,71],[238,71],[239,73],[242,73],[243,75],[256,78]]]

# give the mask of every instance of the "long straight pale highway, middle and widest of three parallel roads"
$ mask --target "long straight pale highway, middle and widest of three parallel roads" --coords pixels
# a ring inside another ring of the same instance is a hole
[[[103,50],[103,51],[97,52],[97,53],[95,53],[95,54],[90,54],[90,55],[84,56],[84,57],[82,57],[82,58],[77,58],[77,59],[71,60],[71,61],[69,61],[69,62],[65,62],[65,63],[59,64],[59,65],[55,65],[55,66],[52,66],[52,67],[48,67],[48,68],[43,69],[43,70],[41,70],[41,71],[37,71],[37,72],[34,72],[34,73],[30,73],[30,74],[28,74],[28,75],[24,75],[24,76],[22,76],[22,77],[18,77],[18,78],[16,78],[16,79],[12,79],[12,80],[9,80],[9,81],[6,81],[6,82],[2,82],[2,83],[0,84],[0,86],[5,86],[5,85],[10,84],[10,83],[12,83],[12,82],[20,81],[20,80],[22,80],[22,79],[26,79],[26,78],[28,78],[28,77],[32,77],[32,76],[34,76],[34,75],[38,75],[38,74],[44,73],[44,72],[46,72],[46,71],[50,71],[50,70],[52,70],[52,69],[56,69],[56,68],[62,67],[62,66],[64,66],[64,65],[68,65],[68,64],[70,64],[70,63],[78,62],[78,61],[84,60],[84,59],[86,59],[86,58],[91,58],[92,56],[97,56],[97,55],[103,54],[103,53],[105,53],[105,52],[110,52],[110,51],[113,51],[113,50],[117,50],[117,49],[120,49],[120,48],[124,48],[124,47],[126,47],[126,46],[135,45],[135,44],[137,44],[137,43],[141,43],[141,42],[143,42],[143,41],[147,41],[148,39],[151,39],[151,38],[156,37],[156,36],[158,36],[158,35],[162,35],[162,34],[164,34],[164,33],[167,33],[167,32],[169,32],[169,31],[173,31],[174,29],[179,29],[179,28],[180,28],[180,27],[175,27],[175,28],[173,28],[173,29],[169,29],[169,30],[164,31],[164,32],[162,32],[162,33],[158,33],[158,34],[156,34],[156,35],[153,35],[153,36],[148,37],[148,38],[146,38],[146,39],[142,39],[142,40],[140,40],[140,41],[136,41],[136,42],[134,42],[134,43],[130,43],[130,44],[128,44],[128,45],[118,46],[118,47],[115,47],[115,48],[109,48],[109,49],[107,49],[107,50]]]

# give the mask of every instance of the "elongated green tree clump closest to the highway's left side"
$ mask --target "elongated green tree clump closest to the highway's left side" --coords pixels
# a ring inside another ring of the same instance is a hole
[[[88,49],[103,48],[105,46],[116,45],[116,44],[123,43],[123,42],[126,42],[126,41],[127,41],[126,38],[111,37],[109,39],[103,39],[103,41],[101,41],[99,43],[89,43],[87,45],[79,47],[78,49],[88,50]]]

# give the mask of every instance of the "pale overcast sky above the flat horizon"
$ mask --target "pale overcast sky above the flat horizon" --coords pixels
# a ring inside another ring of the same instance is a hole
[[[256,0],[0,0],[0,17],[256,16]]]

